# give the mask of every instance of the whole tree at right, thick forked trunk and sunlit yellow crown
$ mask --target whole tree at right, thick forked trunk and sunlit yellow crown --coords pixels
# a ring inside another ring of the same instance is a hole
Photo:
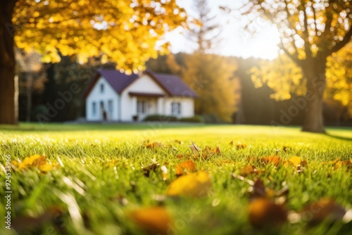
[[[241,11],[251,18],[256,15],[269,20],[277,27],[280,49],[303,72],[307,109],[303,131],[325,132],[322,103],[327,82],[327,58],[351,40],[351,1],[255,0],[244,4]],[[253,20],[252,24],[260,27],[258,22]]]

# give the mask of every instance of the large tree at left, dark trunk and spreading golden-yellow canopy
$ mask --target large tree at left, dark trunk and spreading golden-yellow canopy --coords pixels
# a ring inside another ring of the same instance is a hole
[[[0,3],[0,123],[15,124],[18,84],[14,46],[34,49],[46,63],[77,55],[114,61],[126,72],[142,70],[157,55],[156,42],[185,25],[175,0],[8,0]],[[165,46],[160,48],[165,49]]]

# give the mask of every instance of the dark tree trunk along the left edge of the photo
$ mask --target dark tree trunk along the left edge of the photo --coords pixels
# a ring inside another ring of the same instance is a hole
[[[0,124],[18,123],[18,80],[15,78],[12,13],[15,0],[0,3]]]

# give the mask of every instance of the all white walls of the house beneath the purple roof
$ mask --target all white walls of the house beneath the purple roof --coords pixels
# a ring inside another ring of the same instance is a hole
[[[103,92],[101,92],[103,85]],[[172,115],[178,118],[194,116],[194,99],[187,97],[136,97],[131,96],[130,92],[146,94],[163,94],[166,92],[149,75],[142,75],[135,80],[129,87],[122,91],[121,95],[111,87],[103,77],[94,85],[92,91],[86,99],[86,118],[88,121],[103,120],[101,102],[107,112],[108,119],[113,121],[132,122],[133,116],[137,115],[138,101],[146,103],[145,113],[138,113],[139,120],[143,120],[147,115]],[[95,113],[93,111],[95,103]],[[111,105],[109,104],[111,103]],[[180,103],[180,113],[172,113],[172,103]]]

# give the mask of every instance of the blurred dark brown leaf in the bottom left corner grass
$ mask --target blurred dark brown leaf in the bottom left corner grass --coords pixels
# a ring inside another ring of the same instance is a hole
[[[30,234],[30,231],[42,227],[47,222],[58,222],[62,221],[62,209],[59,207],[51,207],[45,210],[42,215],[37,217],[21,216],[13,219],[11,227],[18,234]],[[61,224],[62,225],[62,224]]]

